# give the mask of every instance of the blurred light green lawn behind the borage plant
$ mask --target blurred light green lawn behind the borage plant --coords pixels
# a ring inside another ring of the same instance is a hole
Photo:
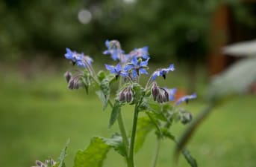
[[[24,79],[19,73],[2,73],[0,82],[0,166],[33,166],[35,160],[57,159],[70,138],[67,166],[72,166],[75,151],[90,142],[90,137],[110,135],[118,128],[108,129],[110,108],[102,111],[97,96],[85,91],[69,91],[60,73],[40,73]],[[182,79],[167,80],[184,84]],[[184,84],[185,85],[185,84]],[[203,86],[202,86],[203,87]],[[194,115],[203,107],[202,98],[185,106]],[[188,148],[199,166],[256,165],[255,96],[237,96],[216,108],[203,122]],[[127,127],[131,125],[131,106],[123,110]],[[181,134],[185,126],[174,124],[173,134]],[[149,134],[137,154],[137,166],[150,166],[154,151],[154,134]],[[158,167],[174,166],[175,145],[161,144]],[[179,166],[188,166],[180,157]],[[125,166],[114,151],[104,166]]]

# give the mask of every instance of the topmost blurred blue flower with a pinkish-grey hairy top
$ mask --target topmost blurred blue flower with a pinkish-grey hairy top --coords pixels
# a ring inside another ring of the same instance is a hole
[[[122,54],[124,51],[121,49],[121,46],[118,41],[108,41],[106,40],[105,45],[107,50],[104,50],[103,54],[110,54],[113,60],[122,60]]]

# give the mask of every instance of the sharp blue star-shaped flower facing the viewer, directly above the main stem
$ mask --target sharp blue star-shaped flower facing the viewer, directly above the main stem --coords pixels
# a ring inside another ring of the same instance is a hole
[[[148,72],[146,71],[146,68],[148,68],[148,62],[149,59],[142,61],[141,59],[138,60],[137,57],[134,56],[134,58],[131,59],[131,63],[128,63],[128,65],[126,65],[124,69],[127,72],[131,71],[132,77],[136,78],[136,76],[139,76],[142,73],[148,74]]]

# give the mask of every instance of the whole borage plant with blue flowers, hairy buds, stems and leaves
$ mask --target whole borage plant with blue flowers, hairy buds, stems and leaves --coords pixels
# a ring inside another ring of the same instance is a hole
[[[146,135],[150,131],[155,131],[157,151],[154,153],[152,167],[156,166],[159,145],[161,140],[175,140],[175,136],[170,131],[173,122],[181,121],[187,124],[191,121],[192,115],[184,108],[179,108],[182,102],[188,102],[195,99],[196,94],[181,97],[175,100],[176,88],[163,88],[157,85],[155,79],[162,76],[166,79],[166,74],[175,71],[174,65],[167,68],[159,68],[149,76],[146,85],[140,84],[140,76],[148,75],[147,70],[149,62],[148,47],[138,48],[125,54],[118,41],[106,41],[107,50],[104,54],[109,54],[111,58],[117,61],[117,65],[105,65],[107,71],[96,73],[93,69],[93,59],[85,56],[84,53],[77,53],[66,48],[66,59],[72,61],[73,65],[78,65],[79,70],[67,71],[64,76],[68,82],[68,88],[84,88],[88,93],[88,88],[94,86],[96,94],[102,99],[103,109],[110,105],[112,112],[110,114],[109,128],[117,122],[119,133],[113,134],[110,138],[93,137],[90,145],[84,151],[78,151],[75,155],[75,167],[100,167],[107,155],[107,152],[113,148],[117,153],[124,157],[128,167],[134,167],[134,153],[143,146]],[[110,97],[110,85],[119,82],[119,88],[114,99]],[[125,130],[125,124],[122,118],[122,107],[124,105],[134,105],[134,117],[132,120],[131,134]],[[139,114],[143,117],[139,117]],[[197,166],[196,160],[190,156],[187,149],[182,148],[182,154],[190,166]],[[66,148],[60,156],[58,163],[48,160],[46,163],[37,161],[37,165],[45,166],[64,166],[63,160],[66,154]]]

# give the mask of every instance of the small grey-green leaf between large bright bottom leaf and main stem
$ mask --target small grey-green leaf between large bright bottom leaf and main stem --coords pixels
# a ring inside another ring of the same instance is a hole
[[[122,142],[122,136],[120,134],[113,134],[112,138],[103,138],[103,140],[107,145],[110,145],[112,148],[114,148],[115,151],[117,151],[123,157],[126,156],[127,153],[125,145]]]

